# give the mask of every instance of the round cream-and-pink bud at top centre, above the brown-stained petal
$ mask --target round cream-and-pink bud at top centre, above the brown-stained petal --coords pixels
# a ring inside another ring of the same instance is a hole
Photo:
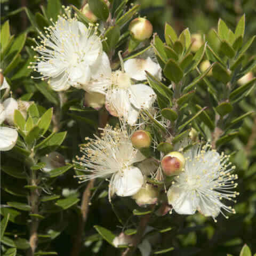
[[[144,41],[151,37],[153,33],[153,26],[147,19],[136,18],[131,21],[129,31],[134,39]]]

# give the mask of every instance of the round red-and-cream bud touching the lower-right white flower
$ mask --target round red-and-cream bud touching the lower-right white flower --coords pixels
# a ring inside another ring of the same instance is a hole
[[[168,176],[179,174],[184,165],[185,158],[177,151],[167,154],[161,161],[163,172]]]

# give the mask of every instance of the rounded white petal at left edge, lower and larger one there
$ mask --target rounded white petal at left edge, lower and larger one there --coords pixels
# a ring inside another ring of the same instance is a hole
[[[0,127],[0,150],[11,150],[18,140],[18,132],[9,127]]]

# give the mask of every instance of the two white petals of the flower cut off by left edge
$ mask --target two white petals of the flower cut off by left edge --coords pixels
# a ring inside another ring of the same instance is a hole
[[[0,103],[0,125],[5,121],[4,105]],[[11,150],[18,140],[18,132],[6,126],[0,126],[0,151]]]

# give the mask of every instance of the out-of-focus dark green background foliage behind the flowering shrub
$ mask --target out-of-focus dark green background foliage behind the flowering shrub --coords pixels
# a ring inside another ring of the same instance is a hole
[[[50,1],[50,0],[49,0]],[[129,3],[138,3],[141,5],[140,15],[147,16],[153,23],[154,31],[159,37],[164,38],[164,24],[168,22],[179,34],[183,29],[189,27],[190,33],[207,34],[211,28],[216,28],[218,19],[224,20],[231,29],[241,18],[246,14],[246,30],[245,38],[250,38],[256,34],[256,4],[253,0],[139,0],[129,1]],[[42,12],[41,5],[46,5],[47,1],[42,0],[1,0],[1,24],[9,19],[11,34],[18,35],[23,31],[29,33],[29,38],[35,36],[35,32],[31,30],[30,21],[26,12],[20,11],[19,8],[26,7],[31,13]],[[80,0],[63,0],[62,4],[74,4],[79,9],[81,7]],[[18,11],[17,11],[18,10]],[[29,38],[26,41],[26,46],[31,44]],[[249,52],[256,52],[256,41],[253,42]],[[252,58],[249,54],[248,58]],[[22,51],[23,61],[31,58],[29,50]],[[13,77],[14,74],[9,74]],[[254,68],[255,76],[255,68]],[[30,82],[29,82],[30,81]],[[202,82],[203,83],[203,82]],[[198,92],[202,93],[204,98],[204,85],[198,85]],[[28,77],[14,77],[12,79],[12,90],[17,98],[25,93],[33,93],[33,100],[39,102],[44,108],[54,106],[55,99],[58,98],[55,92],[51,92],[44,97],[45,92],[35,89],[31,85],[31,80]],[[50,91],[50,89],[49,89]],[[74,92],[72,92],[74,93]],[[244,113],[247,111],[255,111],[256,97],[255,90],[252,90],[249,97],[239,102],[236,106],[236,113]],[[55,98],[54,98],[55,97]],[[74,93],[73,98],[76,98]],[[195,100],[195,102],[197,102]],[[66,106],[67,109],[69,106]],[[90,115],[95,118],[97,112],[90,112]],[[69,115],[63,111],[63,115]],[[88,124],[83,122],[83,119],[77,119],[75,114],[72,118],[76,120],[76,126],[69,129],[68,122],[57,127],[60,131],[68,131],[69,136],[60,147],[59,151],[67,158],[72,159],[77,154],[77,145],[81,143],[85,135],[91,135],[94,129],[88,128]],[[89,113],[84,114],[84,118],[88,117]],[[66,118],[69,120],[68,118]],[[173,246],[177,249],[166,252],[166,255],[239,255],[242,246],[246,243],[251,248],[252,252],[256,252],[256,115],[255,113],[245,118],[245,121],[239,124],[239,136],[229,142],[226,150],[232,155],[231,161],[237,166],[236,172],[239,176],[238,190],[240,196],[235,205],[237,214],[232,215],[229,220],[219,218],[217,223],[212,219],[205,218],[200,214],[195,214],[190,217],[184,217],[173,213],[165,215],[162,218],[157,218],[154,222],[150,222],[150,226],[156,230],[162,230],[157,234],[148,233],[147,237],[156,244],[154,250],[168,248]],[[73,171],[67,172],[62,177],[59,177],[56,183],[55,190],[61,191],[62,188],[77,189],[77,181],[73,179]],[[10,183],[17,182],[12,180],[8,175],[1,174],[2,179],[10,180]],[[98,185],[98,184],[96,184]],[[82,193],[83,187],[79,187],[79,193]],[[96,186],[97,188],[97,186]],[[95,189],[92,205],[90,206],[89,218],[87,219],[84,233],[84,246],[81,255],[119,255],[119,251],[109,245],[102,237],[96,233],[93,225],[100,225],[109,230],[115,230],[117,235],[122,231],[122,227],[118,219],[113,214],[113,209],[106,198],[106,187],[100,187],[100,190]],[[1,195],[1,201],[10,201],[10,197],[5,192]],[[134,202],[131,198],[122,198],[116,201],[116,211],[121,213],[124,219],[129,218],[131,211],[134,209]],[[127,208],[131,211],[127,211]],[[51,222],[59,222],[59,214],[51,215]],[[77,226],[76,209],[71,208],[68,214],[61,216],[61,225],[63,232],[59,234],[51,243],[50,249],[58,252],[59,255],[70,255],[72,245],[74,243],[74,230]],[[9,222],[7,229],[16,230],[16,234],[23,234],[22,226],[15,225]],[[44,222],[43,224],[44,225]],[[171,229],[163,231],[167,228]],[[129,228],[129,227],[126,227]],[[20,255],[23,255],[22,252]],[[247,254],[250,255],[250,254]]]

